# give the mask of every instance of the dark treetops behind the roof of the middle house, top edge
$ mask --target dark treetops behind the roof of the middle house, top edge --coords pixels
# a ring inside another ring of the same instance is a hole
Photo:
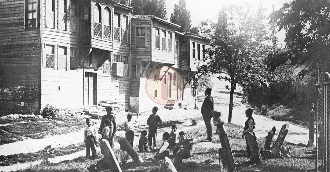
[[[167,19],[166,0],[132,0],[131,4],[135,15],[154,15],[164,20]]]

